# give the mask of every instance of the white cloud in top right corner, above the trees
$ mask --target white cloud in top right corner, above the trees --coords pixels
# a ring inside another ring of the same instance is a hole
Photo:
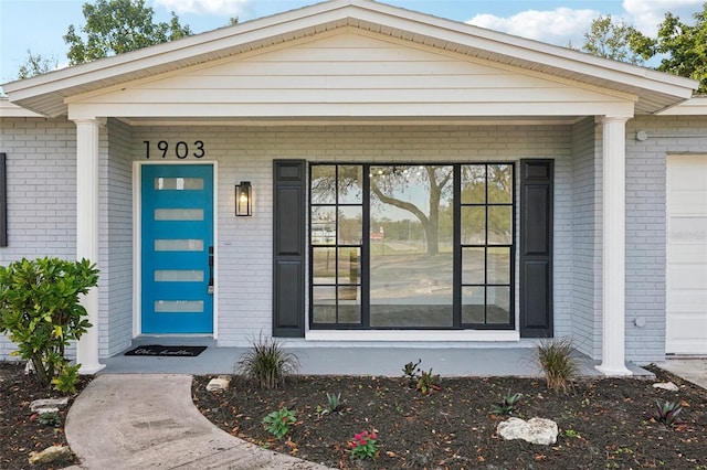
[[[704,0],[624,0],[623,9],[632,19],[631,23],[644,34],[655,36],[657,25],[671,12],[684,23],[692,24],[694,13],[701,11]]]

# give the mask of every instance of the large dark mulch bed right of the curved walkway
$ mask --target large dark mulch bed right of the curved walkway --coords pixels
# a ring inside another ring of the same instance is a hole
[[[422,395],[402,377],[299,376],[276,391],[235,381],[228,392],[207,392],[211,377],[198,376],[192,395],[201,413],[233,436],[340,469],[707,469],[707,391],[650,368],[679,391],[639,378],[582,380],[563,394],[544,380],[442,377],[440,391]],[[508,391],[524,394],[514,416],[558,423],[556,445],[497,435],[506,417],[490,412]],[[326,393],[341,394],[342,415],[317,412]],[[683,405],[678,425],[650,418],[656,399]],[[276,439],[261,421],[282,407],[294,409],[297,420]],[[378,434],[379,456],[352,460],[347,441],[362,430]]]

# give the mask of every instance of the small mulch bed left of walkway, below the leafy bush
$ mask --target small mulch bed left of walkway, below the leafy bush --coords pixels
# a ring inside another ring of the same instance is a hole
[[[91,376],[82,376],[77,392],[91,380]],[[70,406],[76,395],[70,396]],[[51,466],[31,466],[28,461],[31,451],[67,445],[64,423],[68,407],[59,412],[61,423],[57,426],[40,424],[39,416],[30,410],[30,404],[35,399],[62,396],[51,386],[40,385],[34,376],[24,375],[23,364],[0,361],[0,469],[60,469],[78,463],[75,458]]]

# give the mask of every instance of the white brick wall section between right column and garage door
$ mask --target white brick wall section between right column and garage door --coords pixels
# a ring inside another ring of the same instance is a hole
[[[665,357],[666,156],[705,153],[707,137],[637,141],[639,130],[707,135],[707,117],[639,117],[626,128],[626,357],[650,363]]]

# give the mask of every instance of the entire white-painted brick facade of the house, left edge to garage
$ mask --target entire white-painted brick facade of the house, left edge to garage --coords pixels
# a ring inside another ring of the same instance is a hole
[[[639,118],[627,128],[626,357],[663,357],[665,329],[665,153],[705,151],[705,139],[648,139],[635,130],[707,128],[707,119]],[[1,119],[8,153],[10,246],[0,264],[22,256],[74,257],[75,127],[66,120]],[[597,129],[597,131],[595,131]],[[601,356],[601,128],[574,126],[129,127],[108,120],[101,140],[101,355],[133,335],[131,163],[145,140],[191,145],[218,161],[218,334],[246,345],[271,331],[272,161],[464,162],[556,160],[555,332]],[[151,160],[159,159],[152,153]],[[159,159],[161,160],[161,159]],[[177,160],[171,156],[167,160]],[[190,159],[193,160],[193,159]],[[233,215],[233,185],[250,180],[254,216]],[[519,197],[517,197],[518,201]],[[243,274],[247,275],[244,276]],[[517,286],[517,275],[516,275]],[[516,296],[517,299],[517,296]],[[639,329],[636,316],[646,319]],[[303,343],[300,340],[294,343]],[[0,357],[12,346],[0,339]]]

